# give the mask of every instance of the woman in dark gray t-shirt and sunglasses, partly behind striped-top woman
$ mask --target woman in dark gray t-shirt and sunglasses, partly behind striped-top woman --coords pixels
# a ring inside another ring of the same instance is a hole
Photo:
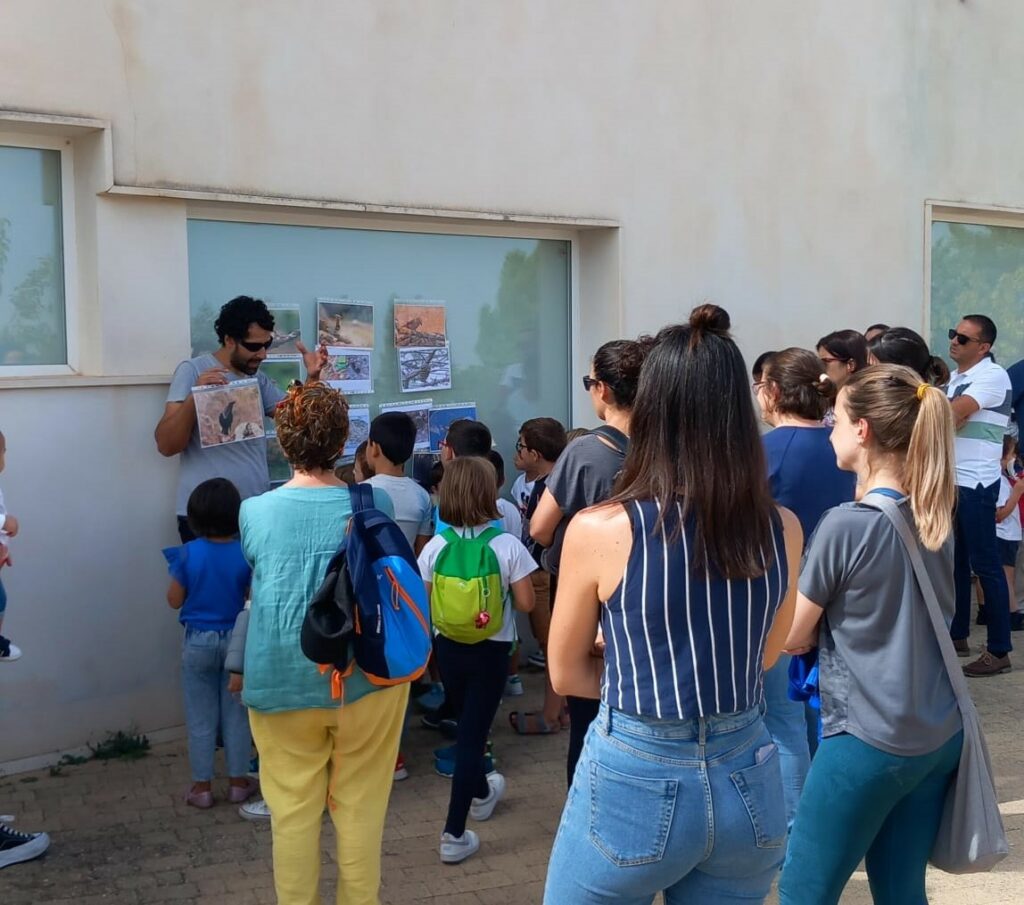
[[[562,541],[569,519],[581,509],[607,500],[622,471],[640,369],[653,342],[645,336],[638,340],[605,343],[594,353],[590,374],[583,379],[594,414],[603,425],[565,447],[529,520],[530,536],[548,548],[542,565],[551,573],[552,603],[556,598]],[[572,696],[567,705],[569,746],[565,772],[571,786],[584,736],[597,716],[597,701]],[[543,714],[511,715],[509,719],[512,728],[521,734],[548,734],[554,731],[552,718],[560,709],[560,698],[549,689]]]

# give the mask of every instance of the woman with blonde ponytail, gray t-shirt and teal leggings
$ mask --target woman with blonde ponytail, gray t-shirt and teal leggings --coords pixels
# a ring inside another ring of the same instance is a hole
[[[956,485],[944,393],[908,368],[873,365],[840,390],[831,442],[859,499],[898,501],[951,619]],[[861,503],[825,513],[786,641],[792,653],[818,648],[823,738],[790,838],[784,905],[839,902],[862,858],[874,902],[927,901],[925,867],[963,743],[939,644],[885,513]]]

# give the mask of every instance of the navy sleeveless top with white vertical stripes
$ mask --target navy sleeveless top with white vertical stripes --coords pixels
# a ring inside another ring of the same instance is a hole
[[[771,565],[756,578],[696,572],[694,521],[673,538],[679,504],[654,530],[659,507],[632,502],[633,549],[602,607],[610,707],[664,720],[738,713],[761,703],[765,640],[787,585],[782,525],[774,519]]]

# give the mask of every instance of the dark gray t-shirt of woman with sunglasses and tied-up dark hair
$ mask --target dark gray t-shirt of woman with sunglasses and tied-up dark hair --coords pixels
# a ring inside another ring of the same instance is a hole
[[[578,437],[558,457],[545,487],[551,491],[565,518],[555,529],[551,547],[542,555],[546,571],[558,574],[562,541],[569,520],[580,510],[603,503],[611,495],[625,458],[596,434]]]

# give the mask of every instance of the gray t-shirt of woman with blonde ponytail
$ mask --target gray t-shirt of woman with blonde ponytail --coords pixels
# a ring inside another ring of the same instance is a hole
[[[912,525],[905,500],[900,508]],[[948,623],[953,540],[921,549]],[[848,732],[893,755],[926,755],[961,729],[956,698],[899,535],[859,503],[828,510],[811,537],[800,592],[824,608],[818,633],[822,735]]]

